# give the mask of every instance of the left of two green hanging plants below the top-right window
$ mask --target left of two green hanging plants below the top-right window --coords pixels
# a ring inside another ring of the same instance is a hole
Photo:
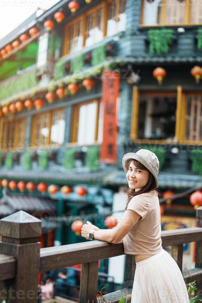
[[[168,53],[170,44],[173,40],[173,29],[162,28],[162,29],[149,29],[149,53],[158,55],[162,53]]]

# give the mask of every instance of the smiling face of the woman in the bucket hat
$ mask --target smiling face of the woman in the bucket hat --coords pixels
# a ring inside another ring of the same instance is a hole
[[[129,188],[139,191],[149,180],[149,172],[144,169],[138,169],[133,160],[130,161],[128,172],[126,173]]]

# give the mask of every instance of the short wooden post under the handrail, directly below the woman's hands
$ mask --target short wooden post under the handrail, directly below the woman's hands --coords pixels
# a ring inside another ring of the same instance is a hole
[[[96,302],[98,288],[98,261],[84,263],[81,266],[81,284],[79,303]]]

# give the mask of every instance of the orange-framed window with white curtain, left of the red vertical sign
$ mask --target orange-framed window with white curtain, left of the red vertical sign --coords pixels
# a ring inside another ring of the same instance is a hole
[[[93,144],[102,141],[102,103],[91,100],[74,106],[71,142]]]

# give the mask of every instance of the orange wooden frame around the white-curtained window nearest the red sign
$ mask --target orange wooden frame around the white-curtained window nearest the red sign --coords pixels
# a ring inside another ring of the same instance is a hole
[[[87,144],[87,145],[94,145],[94,144],[98,144],[98,128],[99,128],[99,111],[100,111],[100,102],[101,102],[101,98],[97,98],[97,99],[92,99],[89,101],[84,101],[81,103],[78,103],[76,105],[74,105],[73,107],[73,119],[72,119],[72,123],[71,123],[71,136],[70,136],[70,143],[69,144],[77,144],[77,145],[86,145],[86,144],[79,144],[78,143],[78,123],[79,123],[79,109],[82,105],[87,105],[93,102],[97,102],[97,112],[96,112],[96,125],[95,125],[95,141],[92,144]]]

